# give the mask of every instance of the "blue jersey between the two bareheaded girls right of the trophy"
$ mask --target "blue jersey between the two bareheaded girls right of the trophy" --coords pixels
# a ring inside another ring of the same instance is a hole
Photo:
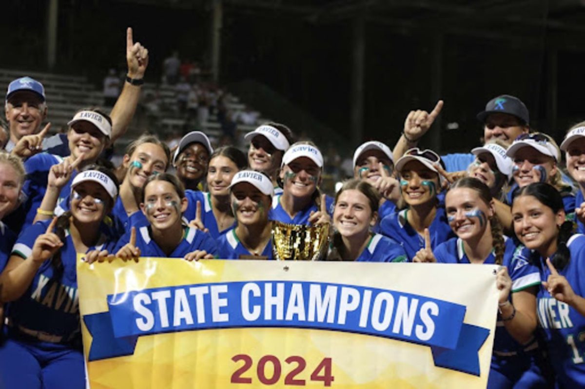
[[[380,230],[382,234],[400,242],[406,251],[408,262],[411,262],[417,252],[425,247],[425,238],[408,224],[408,209],[385,217],[380,223]],[[438,207],[436,209],[435,218],[429,225],[429,234],[431,235],[432,249],[455,236],[447,222],[444,208]]]

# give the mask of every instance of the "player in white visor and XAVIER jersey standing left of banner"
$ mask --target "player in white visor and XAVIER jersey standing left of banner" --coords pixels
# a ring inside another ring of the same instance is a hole
[[[0,387],[84,387],[77,253],[113,248],[102,223],[118,193],[113,172],[90,165],[71,183],[71,210],[20,234],[2,275],[7,339]]]

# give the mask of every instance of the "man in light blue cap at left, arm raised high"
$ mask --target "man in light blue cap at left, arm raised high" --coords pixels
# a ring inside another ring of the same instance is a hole
[[[131,28],[128,28],[126,32],[126,60],[128,61],[126,82],[111,112],[110,140],[112,143],[126,132],[134,116],[141,85],[144,83],[144,72],[148,65],[148,50],[138,42],[133,43]],[[49,130],[50,124],[40,131],[48,109],[44,87],[39,81],[30,77],[21,77],[12,81],[6,93],[5,112],[10,131],[10,139],[5,146],[6,151],[14,152],[20,157],[29,157],[39,151],[61,157],[70,154],[65,134],[44,138],[44,133]],[[41,132],[42,136],[40,136]]]

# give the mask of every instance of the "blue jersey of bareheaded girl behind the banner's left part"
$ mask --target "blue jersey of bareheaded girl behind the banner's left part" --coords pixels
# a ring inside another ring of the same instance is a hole
[[[124,245],[130,242],[130,233],[126,232],[116,244],[114,252],[118,252]],[[195,250],[205,250],[208,254],[217,252],[217,246],[214,238],[207,232],[187,227],[185,235],[178,246],[170,255],[164,253],[160,246],[150,237],[150,227],[143,225],[136,228],[136,247],[140,249],[140,256],[150,256],[157,258],[183,258]]]

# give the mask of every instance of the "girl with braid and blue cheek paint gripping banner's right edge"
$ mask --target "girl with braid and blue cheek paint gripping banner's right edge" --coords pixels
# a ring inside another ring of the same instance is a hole
[[[503,236],[490,189],[480,180],[457,180],[445,196],[445,209],[457,237],[432,251],[421,249],[414,262],[503,265],[496,277],[500,314],[487,387],[545,387],[534,338],[540,276],[528,263],[530,252]]]

